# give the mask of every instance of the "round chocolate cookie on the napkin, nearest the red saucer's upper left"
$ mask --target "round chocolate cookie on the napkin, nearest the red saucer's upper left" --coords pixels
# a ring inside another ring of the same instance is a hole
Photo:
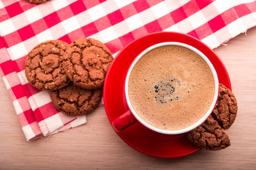
[[[111,61],[105,44],[91,38],[81,38],[70,44],[64,54],[64,69],[70,80],[86,89],[101,88]]]

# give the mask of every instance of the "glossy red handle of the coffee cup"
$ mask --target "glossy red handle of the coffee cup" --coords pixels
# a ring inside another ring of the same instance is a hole
[[[116,118],[112,122],[112,126],[117,132],[120,132],[121,130],[124,130],[126,127],[134,124],[135,122],[137,122],[137,119],[133,116],[131,111],[127,111],[118,118]]]

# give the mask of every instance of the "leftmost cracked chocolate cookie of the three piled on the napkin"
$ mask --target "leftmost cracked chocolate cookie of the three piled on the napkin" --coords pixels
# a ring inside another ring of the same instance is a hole
[[[25,74],[29,82],[40,90],[57,90],[68,85],[63,67],[63,55],[68,44],[60,40],[42,42],[26,58]]]

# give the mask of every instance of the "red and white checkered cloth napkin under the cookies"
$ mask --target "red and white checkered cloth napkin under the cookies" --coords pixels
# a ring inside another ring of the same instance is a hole
[[[24,61],[38,43],[92,37],[104,42],[115,56],[145,34],[177,31],[216,48],[256,26],[256,1],[49,0],[36,5],[0,0],[0,15],[0,68],[29,141],[86,122],[85,116],[65,116],[56,110],[47,91],[28,83]]]

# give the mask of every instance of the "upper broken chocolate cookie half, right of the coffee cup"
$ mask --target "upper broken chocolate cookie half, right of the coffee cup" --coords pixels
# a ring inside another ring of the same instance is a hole
[[[223,129],[228,129],[236,119],[237,102],[234,94],[226,86],[219,84],[218,102],[212,116]]]

